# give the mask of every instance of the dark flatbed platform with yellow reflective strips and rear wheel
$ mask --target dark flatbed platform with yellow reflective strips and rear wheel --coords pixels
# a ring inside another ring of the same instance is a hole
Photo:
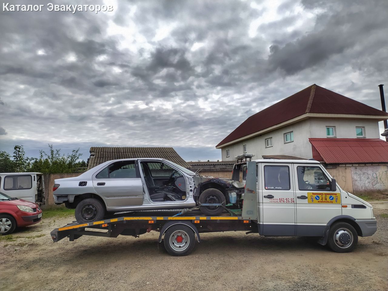
[[[225,211],[219,216],[204,216],[200,211],[141,211],[113,215],[105,220],[78,223],[72,222],[54,229],[50,234],[54,242],[68,237],[74,241],[81,236],[118,237],[119,235],[139,237],[152,230],[164,237],[166,251],[170,255],[188,255],[195,242],[200,242],[199,233],[245,230],[258,232],[257,224],[244,219],[240,213]]]

